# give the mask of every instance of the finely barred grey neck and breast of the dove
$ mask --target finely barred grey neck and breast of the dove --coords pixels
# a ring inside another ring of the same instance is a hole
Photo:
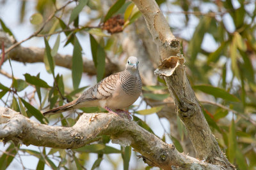
[[[136,76],[133,76],[125,69],[125,71],[120,73],[120,81],[122,89],[126,94],[136,95],[141,93],[142,83],[139,73]]]

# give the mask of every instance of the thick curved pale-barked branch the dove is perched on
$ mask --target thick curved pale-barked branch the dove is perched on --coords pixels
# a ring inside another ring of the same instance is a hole
[[[25,145],[52,148],[79,148],[100,139],[102,134],[111,136],[120,145],[131,145],[140,152],[150,166],[163,169],[221,169],[179,153],[173,145],[140,127],[135,122],[111,113],[83,114],[73,127],[53,127],[30,120],[8,108],[0,107],[0,139]]]

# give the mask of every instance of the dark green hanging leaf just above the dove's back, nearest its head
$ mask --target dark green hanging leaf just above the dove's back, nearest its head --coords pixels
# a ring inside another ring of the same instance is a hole
[[[90,34],[90,43],[92,49],[92,57],[94,65],[97,69],[97,81],[99,82],[104,77],[105,72],[105,52],[104,48],[97,43],[92,34]]]

